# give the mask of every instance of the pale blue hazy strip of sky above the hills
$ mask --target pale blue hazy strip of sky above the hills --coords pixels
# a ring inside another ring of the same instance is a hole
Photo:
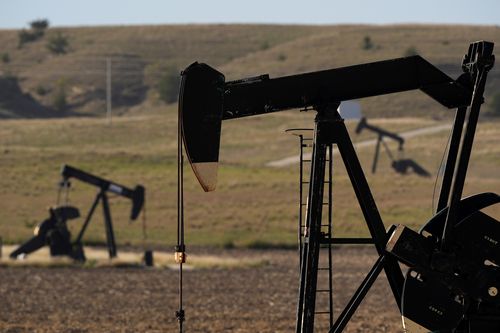
[[[500,25],[500,0],[0,0],[0,28],[169,23]]]

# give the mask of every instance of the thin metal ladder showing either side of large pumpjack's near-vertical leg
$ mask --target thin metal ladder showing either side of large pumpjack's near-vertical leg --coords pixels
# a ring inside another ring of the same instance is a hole
[[[311,155],[313,148],[313,129],[290,129],[287,132],[296,135],[299,138],[300,144],[300,163],[299,163],[299,223],[298,223],[298,243],[299,243],[299,272],[302,266],[302,248],[304,239],[307,236],[307,194],[309,189],[309,173],[311,166]],[[316,289],[317,302],[324,301],[326,297],[327,308],[315,310],[315,315],[328,318],[328,327],[333,326],[333,258],[332,249],[332,179],[333,179],[333,147],[329,145],[327,150],[326,172],[325,172],[325,187],[323,198],[326,199],[323,205],[326,209],[323,210],[323,224],[321,225],[322,245],[320,250],[320,266],[318,267],[318,281],[322,284]],[[304,198],[305,197],[305,198]],[[326,223],[325,223],[326,222]],[[321,279],[323,278],[323,279]],[[319,317],[319,318],[321,318]],[[323,322],[324,323],[324,322]],[[316,325],[321,324],[321,321],[316,321]]]

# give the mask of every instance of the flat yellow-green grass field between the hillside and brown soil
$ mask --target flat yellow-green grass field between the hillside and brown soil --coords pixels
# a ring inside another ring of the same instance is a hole
[[[176,110],[161,115],[104,119],[8,120],[0,122],[0,236],[5,243],[31,237],[33,227],[56,203],[59,170],[66,163],[130,187],[143,184],[147,199],[148,242],[173,246],[176,239]],[[218,188],[204,193],[186,166],[185,214],[188,244],[213,246],[292,246],[298,216],[298,166],[265,167],[297,154],[286,128],[309,127],[312,113],[295,111],[223,124]],[[394,131],[428,127],[443,121],[403,118],[371,120]],[[500,189],[499,121],[479,124],[465,194]],[[348,123],[354,128],[356,123]],[[353,141],[369,138],[356,136]],[[447,132],[409,139],[405,156],[432,173],[430,178],[402,176],[382,153],[378,171],[369,174],[374,147],[358,153],[387,225],[419,227],[432,215],[436,170]],[[393,152],[396,146],[390,144]],[[334,223],[338,235],[366,235],[354,194],[338,159],[335,165]],[[86,213],[96,189],[74,181],[70,203]],[[128,222],[130,203],[112,200],[119,244],[142,244],[141,221]],[[498,209],[493,212],[498,214]],[[102,243],[98,210],[88,243]],[[70,222],[77,230],[82,219]]]

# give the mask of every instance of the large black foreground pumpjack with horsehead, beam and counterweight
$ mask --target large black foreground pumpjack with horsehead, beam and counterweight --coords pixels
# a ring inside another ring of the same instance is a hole
[[[346,166],[379,258],[329,332],[344,330],[381,271],[385,271],[405,332],[500,332],[500,224],[482,211],[498,204],[500,196],[485,192],[462,197],[486,78],[493,65],[493,43],[479,41],[470,44],[462,61],[463,74],[457,79],[420,56],[229,82],[202,63],[183,71],[179,136],[205,191],[216,187],[222,121],[287,109],[307,108],[317,113],[301,250],[297,333],[314,331],[320,246],[364,243],[363,239],[346,241],[334,235],[325,238],[320,231],[326,152],[332,144],[337,145]],[[456,114],[435,215],[423,221],[419,231],[404,225],[386,230],[337,109],[346,100],[409,90],[420,90],[438,104],[456,108]],[[182,154],[181,145],[179,148]],[[179,160],[182,163],[182,158]],[[179,189],[182,196],[182,186]],[[177,257],[183,258],[179,260],[181,268],[185,258],[182,217],[181,209],[182,246],[177,248]],[[403,271],[400,264],[408,268]],[[182,296],[182,270],[180,291]],[[182,329],[182,301],[177,314]]]

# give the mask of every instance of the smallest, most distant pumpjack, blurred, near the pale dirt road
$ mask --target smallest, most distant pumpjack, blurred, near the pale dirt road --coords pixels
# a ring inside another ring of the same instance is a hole
[[[368,124],[368,121],[366,120],[365,117],[361,118],[361,120],[358,123],[358,126],[356,126],[356,134],[360,134],[364,129],[367,129],[377,134],[377,144],[375,145],[375,155],[373,156],[372,173],[375,173],[377,171],[378,157],[380,155],[380,145],[382,144],[384,145],[385,152],[392,161],[391,167],[397,173],[405,175],[408,173],[409,170],[412,170],[413,172],[415,172],[415,174],[423,177],[429,177],[431,175],[420,164],[418,164],[415,160],[411,158],[402,158],[402,157],[394,158],[393,154],[391,153],[391,150],[387,146],[384,139],[387,138],[396,141],[398,143],[398,153],[399,155],[402,155],[404,152],[404,144],[405,144],[405,139],[402,136],[398,135],[397,133],[392,133],[386,129],[380,128],[378,126]]]

